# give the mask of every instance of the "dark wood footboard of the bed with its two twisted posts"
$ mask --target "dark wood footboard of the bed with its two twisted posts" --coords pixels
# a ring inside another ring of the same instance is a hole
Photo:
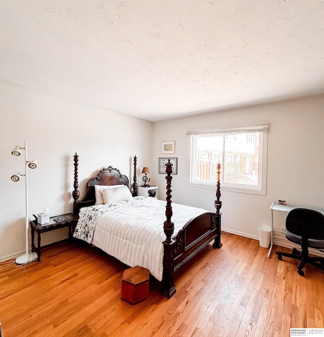
[[[176,293],[174,287],[174,273],[187,261],[193,258],[201,249],[205,248],[214,240],[213,247],[220,248],[221,243],[221,213],[220,208],[220,164],[217,166],[217,191],[215,207],[216,213],[205,213],[188,221],[179,231],[177,236],[172,239],[174,224],[171,221],[171,181],[172,181],[172,163],[166,164],[167,169],[167,220],[164,223],[166,240],[164,244],[164,262],[163,262],[163,294],[171,298]]]

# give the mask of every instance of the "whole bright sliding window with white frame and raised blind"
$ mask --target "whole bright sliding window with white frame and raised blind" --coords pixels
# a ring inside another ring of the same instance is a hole
[[[209,131],[190,131],[190,184],[216,184],[222,164],[223,190],[266,194],[269,124]]]

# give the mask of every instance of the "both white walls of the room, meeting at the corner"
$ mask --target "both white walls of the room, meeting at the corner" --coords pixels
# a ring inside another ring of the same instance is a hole
[[[0,88],[0,261],[25,249],[23,156],[13,157],[15,145],[28,142],[28,159],[38,166],[29,170],[29,218],[48,205],[51,215],[72,211],[73,155],[79,155],[79,190],[101,168],[112,165],[133,178],[132,157],[140,171],[149,166],[151,184],[165,199],[166,179],[158,174],[161,141],[175,140],[178,175],[173,176],[172,200],[215,210],[215,189],[188,185],[189,130],[232,127],[269,122],[267,194],[222,191],[222,226],[233,233],[258,238],[260,224],[271,224],[273,200],[292,205],[324,207],[324,96],[151,123],[103,108],[78,103],[1,81]],[[67,237],[62,229],[42,235],[42,243]]]

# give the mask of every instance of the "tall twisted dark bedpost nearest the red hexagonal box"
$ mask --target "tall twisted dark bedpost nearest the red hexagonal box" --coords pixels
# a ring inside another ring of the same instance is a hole
[[[166,206],[166,217],[167,220],[164,222],[164,232],[166,234],[166,240],[163,242],[164,244],[164,259],[163,259],[163,288],[162,293],[168,297],[169,299],[175,294],[177,291],[174,287],[173,275],[173,261],[174,261],[174,250],[176,242],[171,239],[171,236],[174,232],[174,223],[171,221],[172,213],[172,200],[171,200],[171,173],[172,173],[172,163],[166,163],[166,180],[167,180],[167,206]]]

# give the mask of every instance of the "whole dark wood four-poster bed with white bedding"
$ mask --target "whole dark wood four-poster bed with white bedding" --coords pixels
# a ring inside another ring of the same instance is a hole
[[[171,298],[174,273],[213,242],[220,248],[220,164],[217,166],[216,212],[172,204],[172,163],[166,164],[166,201],[137,196],[137,157],[132,189],[129,179],[108,166],[87,183],[79,200],[78,155],[74,157],[73,213],[79,217],[73,236],[97,246],[130,267],[147,268]],[[102,198],[103,200],[101,200]]]

